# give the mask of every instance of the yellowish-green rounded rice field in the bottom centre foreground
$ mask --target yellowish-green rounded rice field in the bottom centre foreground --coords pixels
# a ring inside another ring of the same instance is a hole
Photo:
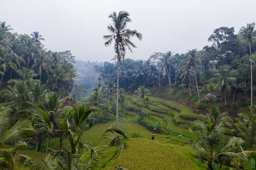
[[[114,169],[116,166],[128,169],[199,169],[188,157],[167,145],[145,139],[127,140],[127,148],[110,165],[104,169]]]

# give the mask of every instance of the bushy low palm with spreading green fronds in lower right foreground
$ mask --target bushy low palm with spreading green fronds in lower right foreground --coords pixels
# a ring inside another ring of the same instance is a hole
[[[208,169],[214,169],[214,166],[220,163],[221,169],[223,160],[247,159],[251,151],[243,151],[241,145],[243,139],[240,137],[230,137],[227,143],[223,143],[225,133],[225,122],[229,118],[226,114],[220,114],[217,108],[212,108],[210,113],[204,116],[202,120],[196,120],[198,142],[194,145],[196,153],[202,161],[206,161]]]

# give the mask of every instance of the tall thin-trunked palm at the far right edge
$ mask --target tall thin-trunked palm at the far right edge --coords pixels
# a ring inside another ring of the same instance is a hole
[[[247,27],[242,27],[240,29],[240,34],[242,35],[243,38],[246,39],[245,45],[249,43],[249,50],[250,50],[250,68],[251,68],[251,106],[253,104],[253,94],[252,94],[252,59],[251,59],[251,43],[252,39],[255,38],[256,36],[256,30],[255,30],[255,23],[247,23]]]

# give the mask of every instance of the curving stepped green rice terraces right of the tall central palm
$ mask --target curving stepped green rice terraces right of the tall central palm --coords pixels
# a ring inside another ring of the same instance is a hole
[[[140,113],[147,113],[156,122],[162,121],[161,132],[170,135],[173,139],[184,136],[196,138],[196,134],[191,134],[188,128],[193,125],[194,120],[201,118],[201,115],[194,113],[193,109],[175,101],[169,101],[154,96],[149,96],[147,106],[142,106],[142,102],[136,95],[129,95],[129,102],[125,105],[127,115],[136,117]],[[177,140],[177,139],[175,139]],[[179,142],[186,141],[181,140]]]

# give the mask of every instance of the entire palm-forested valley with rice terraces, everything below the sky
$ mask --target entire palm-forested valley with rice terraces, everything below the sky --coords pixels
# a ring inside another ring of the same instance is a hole
[[[133,60],[142,34],[125,11],[109,18],[99,43],[114,62],[53,52],[0,22],[0,169],[256,169],[255,23]]]

